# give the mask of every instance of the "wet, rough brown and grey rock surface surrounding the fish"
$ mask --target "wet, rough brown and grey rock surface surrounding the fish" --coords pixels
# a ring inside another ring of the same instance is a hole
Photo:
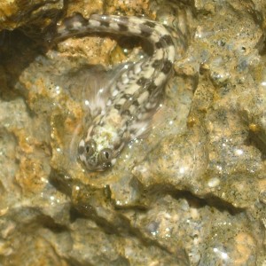
[[[264,265],[265,10],[259,0],[2,1],[0,264]],[[76,159],[85,100],[143,51],[110,35],[50,47],[43,33],[73,12],[145,15],[176,36],[151,133],[106,172]]]

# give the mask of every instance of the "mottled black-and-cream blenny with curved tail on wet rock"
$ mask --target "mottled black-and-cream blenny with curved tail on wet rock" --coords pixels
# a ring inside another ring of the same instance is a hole
[[[139,36],[152,44],[151,56],[122,68],[110,85],[106,106],[95,115],[78,145],[78,158],[90,171],[102,171],[115,163],[122,148],[141,136],[160,104],[175,60],[175,46],[166,27],[138,17],[80,13],[66,18],[54,35],[56,42],[89,33]]]

